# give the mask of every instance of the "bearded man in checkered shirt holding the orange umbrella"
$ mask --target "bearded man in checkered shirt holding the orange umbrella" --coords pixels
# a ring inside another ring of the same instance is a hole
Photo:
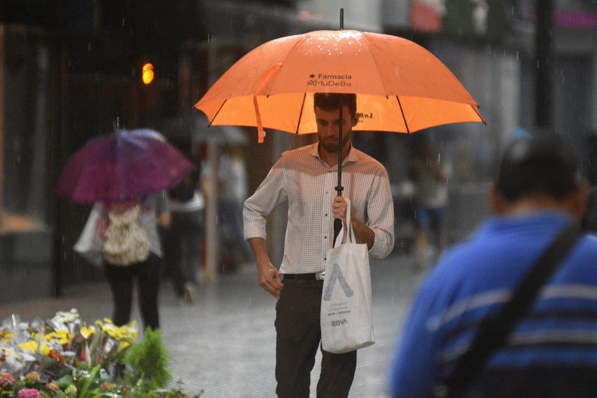
[[[340,112],[340,108],[342,112]],[[282,154],[244,204],[244,235],[255,255],[259,285],[278,299],[276,379],[279,397],[309,397],[310,372],[320,346],[320,302],[325,256],[333,242],[333,220],[352,224],[358,242],[373,257],[394,246],[393,202],[386,169],[351,145],[358,123],[356,95],[314,94],[318,143]],[[342,117],[339,117],[342,115]],[[338,139],[342,130],[342,142]],[[334,191],[339,154],[344,188]],[[274,267],[266,250],[266,215],[288,202],[288,227],[282,264]],[[318,397],[347,397],[356,368],[356,351],[322,350]]]

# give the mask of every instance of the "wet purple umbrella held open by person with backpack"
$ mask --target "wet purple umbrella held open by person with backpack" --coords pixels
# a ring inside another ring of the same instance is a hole
[[[154,130],[119,130],[89,140],[62,169],[57,190],[73,202],[119,202],[170,189],[194,165]]]

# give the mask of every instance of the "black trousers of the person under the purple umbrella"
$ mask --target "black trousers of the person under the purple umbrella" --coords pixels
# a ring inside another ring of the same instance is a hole
[[[154,253],[151,253],[150,257],[142,263],[126,267],[104,263],[106,279],[112,290],[114,304],[112,321],[115,325],[125,325],[130,321],[133,281],[136,279],[143,327],[152,329],[160,327],[158,316],[160,268],[161,259]]]

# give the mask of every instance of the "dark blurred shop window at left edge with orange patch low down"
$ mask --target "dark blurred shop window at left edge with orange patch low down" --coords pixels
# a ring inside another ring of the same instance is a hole
[[[47,32],[0,25],[0,300],[54,288],[49,185],[55,61]]]

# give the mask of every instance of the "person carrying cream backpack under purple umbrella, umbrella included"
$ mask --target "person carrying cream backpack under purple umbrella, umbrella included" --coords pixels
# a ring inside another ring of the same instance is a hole
[[[157,225],[170,223],[165,190],[192,169],[182,152],[148,129],[117,130],[90,139],[62,169],[58,193],[72,202],[94,203],[74,249],[104,266],[116,325],[130,320],[137,281],[143,326],[159,327],[162,247]]]

